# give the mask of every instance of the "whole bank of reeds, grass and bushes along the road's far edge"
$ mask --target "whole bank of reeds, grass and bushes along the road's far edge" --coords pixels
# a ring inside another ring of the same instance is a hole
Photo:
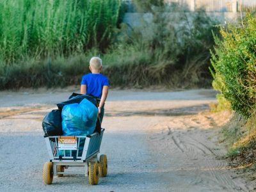
[[[95,55],[112,86],[209,86],[217,21],[204,10],[136,2],[150,13],[131,29],[120,24],[121,0],[0,0],[0,89],[79,84]]]

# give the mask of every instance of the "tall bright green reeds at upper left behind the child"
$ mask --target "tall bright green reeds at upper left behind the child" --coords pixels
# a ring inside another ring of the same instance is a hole
[[[0,60],[104,51],[120,21],[121,0],[0,0]]]

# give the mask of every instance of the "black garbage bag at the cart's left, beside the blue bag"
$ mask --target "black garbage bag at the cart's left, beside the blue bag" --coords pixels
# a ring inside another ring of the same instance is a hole
[[[62,135],[61,110],[55,109],[45,115],[42,123],[45,136]]]

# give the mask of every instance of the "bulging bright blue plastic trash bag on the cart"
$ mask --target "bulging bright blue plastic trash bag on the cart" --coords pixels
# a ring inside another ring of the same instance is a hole
[[[95,131],[98,116],[97,107],[87,99],[79,104],[68,104],[62,109],[62,130],[64,136],[87,136]]]

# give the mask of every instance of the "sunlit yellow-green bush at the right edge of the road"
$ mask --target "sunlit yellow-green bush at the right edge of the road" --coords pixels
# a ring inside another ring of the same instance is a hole
[[[256,18],[247,15],[239,26],[221,29],[212,53],[213,86],[230,102],[232,109],[249,118],[256,101]]]

